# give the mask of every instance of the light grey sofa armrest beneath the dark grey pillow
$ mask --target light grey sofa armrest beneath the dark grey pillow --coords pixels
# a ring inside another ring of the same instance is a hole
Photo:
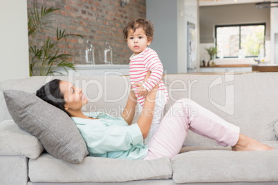
[[[12,119],[0,123],[0,155],[25,155],[37,159],[44,147],[37,137],[21,129]]]

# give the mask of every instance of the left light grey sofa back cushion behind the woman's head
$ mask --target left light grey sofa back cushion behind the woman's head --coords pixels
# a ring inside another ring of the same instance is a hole
[[[84,112],[103,111],[113,116],[120,116],[127,104],[129,95],[129,77],[27,77],[23,79],[8,79],[0,82],[0,122],[12,119],[3,98],[3,90],[24,90],[35,94],[36,91],[52,79],[71,81],[81,87],[89,104],[84,106]],[[24,97],[23,97],[24,98]]]

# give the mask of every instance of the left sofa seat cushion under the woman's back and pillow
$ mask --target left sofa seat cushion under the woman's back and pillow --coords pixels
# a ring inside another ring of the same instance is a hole
[[[42,154],[29,161],[31,182],[127,182],[140,179],[172,178],[168,157],[154,160],[85,157],[81,164],[70,164]]]

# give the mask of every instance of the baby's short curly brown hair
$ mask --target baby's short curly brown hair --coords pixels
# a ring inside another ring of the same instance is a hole
[[[151,37],[151,39],[154,39],[154,23],[152,23],[146,18],[139,17],[133,19],[132,21],[129,21],[124,30],[122,30],[124,39],[127,39],[127,35],[129,34],[130,29],[133,30],[133,32],[135,32],[138,28],[142,28],[145,31],[147,38]]]

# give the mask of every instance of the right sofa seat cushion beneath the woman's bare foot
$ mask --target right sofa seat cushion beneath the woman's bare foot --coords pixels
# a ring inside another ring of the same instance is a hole
[[[278,142],[266,142],[278,148]],[[172,158],[176,183],[278,182],[278,150],[194,150]]]

